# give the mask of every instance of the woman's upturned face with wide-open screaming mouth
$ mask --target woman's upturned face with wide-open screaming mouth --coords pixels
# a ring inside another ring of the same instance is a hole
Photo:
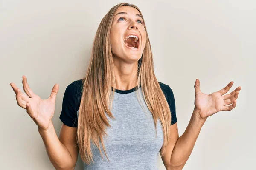
[[[111,49],[115,57],[126,62],[141,58],[147,38],[143,24],[136,8],[122,6],[116,11],[110,31]]]

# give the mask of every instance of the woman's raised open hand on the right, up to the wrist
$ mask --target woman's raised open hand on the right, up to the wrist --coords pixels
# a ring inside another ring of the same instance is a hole
[[[234,82],[230,82],[225,88],[212,94],[204,94],[200,90],[200,82],[195,81],[195,110],[198,111],[201,118],[207,117],[219,111],[231,111],[236,107],[236,99],[238,98],[241,87],[237,87],[230,94],[226,94],[230,90]],[[226,94],[226,95],[224,95]],[[230,105],[232,104],[232,105]]]

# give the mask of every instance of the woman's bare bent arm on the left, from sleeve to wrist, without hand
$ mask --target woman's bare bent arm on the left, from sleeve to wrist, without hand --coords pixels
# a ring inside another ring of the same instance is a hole
[[[59,138],[52,122],[47,130],[38,131],[44,141],[47,155],[56,170],[74,170],[78,157],[76,127],[62,124]]]

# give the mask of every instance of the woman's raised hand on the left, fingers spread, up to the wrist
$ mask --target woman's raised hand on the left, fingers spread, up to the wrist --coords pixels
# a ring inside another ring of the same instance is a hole
[[[58,93],[59,85],[55,84],[52,88],[52,93],[48,99],[41,99],[38,95],[34,94],[27,82],[26,76],[22,77],[23,90],[26,94],[20,92],[20,89],[14,83],[10,83],[13,91],[16,94],[17,104],[26,109],[26,112],[34,120],[38,128],[47,130],[52,116],[55,111],[55,100]]]

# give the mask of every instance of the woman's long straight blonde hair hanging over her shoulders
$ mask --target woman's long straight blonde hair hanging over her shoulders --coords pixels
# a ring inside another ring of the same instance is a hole
[[[106,114],[114,119],[111,113],[112,101],[115,91],[115,75],[113,64],[113,53],[110,44],[110,29],[113,22],[114,14],[121,6],[131,6],[136,8],[143,18],[140,9],[129,3],[120,3],[113,6],[110,11],[103,17],[93,41],[93,47],[90,57],[90,63],[87,68],[85,77],[82,79],[83,91],[81,104],[79,107],[77,141],[82,161],[90,164],[93,161],[91,151],[91,141],[100,149],[100,142],[104,153],[105,151],[103,137],[107,135],[106,127],[110,127]],[[144,21],[144,18],[143,18]],[[144,21],[144,27],[145,21]],[[171,112],[166,97],[160,88],[157,78],[154,74],[153,57],[151,45],[146,30],[147,41],[142,54],[138,61],[137,86],[141,86],[145,103],[151,111],[155,129],[157,129],[157,119],[160,119],[164,139],[163,146],[160,149],[161,156],[166,152],[169,135],[169,125],[171,122]],[[113,90],[111,90],[113,88]],[[112,93],[111,93],[112,91]],[[106,114],[105,114],[106,113]],[[100,142],[99,142],[100,140]],[[109,161],[109,159],[108,159]],[[94,162],[94,161],[93,161]]]

